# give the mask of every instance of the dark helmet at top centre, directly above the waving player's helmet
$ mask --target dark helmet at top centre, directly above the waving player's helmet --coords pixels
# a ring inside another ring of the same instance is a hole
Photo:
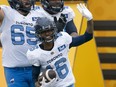
[[[50,14],[62,12],[64,7],[63,0],[41,0],[42,7]]]

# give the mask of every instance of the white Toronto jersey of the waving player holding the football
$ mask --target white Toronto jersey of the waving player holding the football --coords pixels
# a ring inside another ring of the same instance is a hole
[[[41,70],[52,68],[56,71],[58,81],[55,87],[68,87],[75,83],[68,58],[71,42],[72,37],[61,32],[51,51],[43,50],[37,45],[27,52],[27,57],[32,65],[41,66]]]

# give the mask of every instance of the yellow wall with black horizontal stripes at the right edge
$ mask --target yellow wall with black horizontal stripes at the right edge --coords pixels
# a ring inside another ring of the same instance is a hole
[[[106,27],[106,29],[103,29],[99,27],[98,30],[96,30],[95,36],[96,37],[103,37],[103,38],[116,38],[116,0],[88,0],[88,6],[91,12],[93,13],[94,20],[95,21],[101,21],[102,24]],[[103,22],[107,22],[106,24]],[[113,26],[113,28],[112,28]],[[107,39],[107,41],[108,41]],[[110,40],[109,40],[110,41]],[[114,42],[110,42],[112,44],[115,43],[116,39],[113,40]],[[107,42],[108,43],[108,42]],[[105,87],[116,87],[116,45],[113,46],[101,46],[98,47],[98,53],[104,54],[104,57],[101,57],[103,60],[101,60],[101,68],[103,69],[104,74],[104,80],[105,80]],[[109,56],[109,61],[105,62],[107,60],[106,54],[113,54]],[[100,59],[101,59],[100,58]],[[113,62],[112,58],[114,58]],[[104,72],[105,71],[105,72]],[[111,72],[109,72],[111,71]]]

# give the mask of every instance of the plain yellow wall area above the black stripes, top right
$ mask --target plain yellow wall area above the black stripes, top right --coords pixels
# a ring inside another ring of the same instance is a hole
[[[88,0],[94,20],[116,20],[116,0]]]

